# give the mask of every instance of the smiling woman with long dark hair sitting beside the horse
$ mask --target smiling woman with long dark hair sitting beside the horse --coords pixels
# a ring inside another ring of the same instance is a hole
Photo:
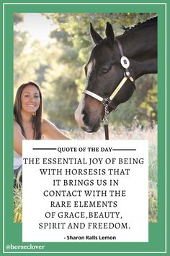
[[[42,95],[35,82],[21,85],[14,102],[14,176],[22,182],[22,140],[69,140],[54,124],[42,118]]]

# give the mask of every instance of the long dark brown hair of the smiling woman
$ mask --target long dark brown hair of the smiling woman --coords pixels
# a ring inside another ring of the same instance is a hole
[[[40,93],[40,106],[37,109],[35,116],[32,116],[32,129],[34,130],[34,140],[40,140],[41,139],[41,123],[42,123],[42,95],[41,95],[40,87],[35,82],[26,82],[19,86],[16,97],[15,97],[15,101],[14,101],[14,119],[19,124],[19,127],[21,127],[22,135],[27,139],[24,132],[24,127],[22,125],[21,95],[24,88],[26,88],[28,85],[35,86],[35,88],[37,88],[37,90]]]

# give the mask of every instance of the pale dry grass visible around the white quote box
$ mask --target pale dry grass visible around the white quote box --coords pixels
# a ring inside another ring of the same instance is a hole
[[[64,131],[65,132],[65,131]],[[65,132],[73,140],[104,140],[104,130],[99,129],[94,134],[88,134],[81,130]],[[148,202],[149,202],[149,221],[158,220],[158,196],[157,196],[157,126],[152,129],[146,127],[140,129],[133,127],[125,129],[119,127],[113,129],[109,127],[110,140],[148,140],[149,141],[149,170],[148,170]],[[14,189],[14,222],[22,222],[22,189]]]

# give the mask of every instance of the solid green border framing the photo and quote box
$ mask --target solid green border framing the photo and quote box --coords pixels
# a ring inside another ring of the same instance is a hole
[[[44,1],[44,0],[43,0]],[[6,2],[6,1],[5,1]],[[10,2],[10,1],[8,1]],[[23,1],[17,1],[17,3]],[[36,1],[41,2],[41,1]],[[53,2],[53,1],[50,1]],[[71,2],[71,1],[67,1]],[[76,1],[73,1],[74,3]],[[99,2],[99,1],[93,1]],[[104,2],[104,1],[101,1]],[[109,2],[109,1],[107,1]],[[125,1],[123,1],[125,2]],[[150,1],[151,2],[151,1]],[[154,1],[153,1],[154,2]],[[112,9],[112,11],[111,11]],[[5,236],[4,244],[22,243],[22,225],[13,223],[13,13],[14,12],[157,12],[158,13],[158,85],[165,85],[165,5],[162,4],[4,4],[4,163],[5,163]],[[2,17],[2,16],[1,16]],[[41,243],[45,252],[165,252],[165,88],[158,86],[158,223],[149,224],[148,243]],[[6,249],[5,249],[6,251]],[[6,251],[12,253],[12,250]],[[14,252],[31,252],[14,250]],[[37,251],[32,250],[32,253]],[[42,253],[43,251],[38,251]],[[59,254],[57,254],[59,255]],[[62,254],[65,255],[65,254]],[[73,254],[72,254],[73,255]],[[77,255],[77,254],[76,254]],[[93,254],[94,255],[94,254]],[[100,253],[101,255],[101,253]],[[109,255],[109,254],[108,254]],[[125,255],[120,253],[119,255]]]

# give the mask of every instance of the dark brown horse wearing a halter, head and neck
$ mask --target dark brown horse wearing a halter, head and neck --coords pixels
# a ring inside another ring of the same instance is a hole
[[[157,73],[157,17],[123,28],[115,37],[107,22],[102,38],[90,24],[95,46],[84,67],[86,88],[75,111],[77,124],[86,132],[97,132],[104,116],[130,99],[135,80]]]

